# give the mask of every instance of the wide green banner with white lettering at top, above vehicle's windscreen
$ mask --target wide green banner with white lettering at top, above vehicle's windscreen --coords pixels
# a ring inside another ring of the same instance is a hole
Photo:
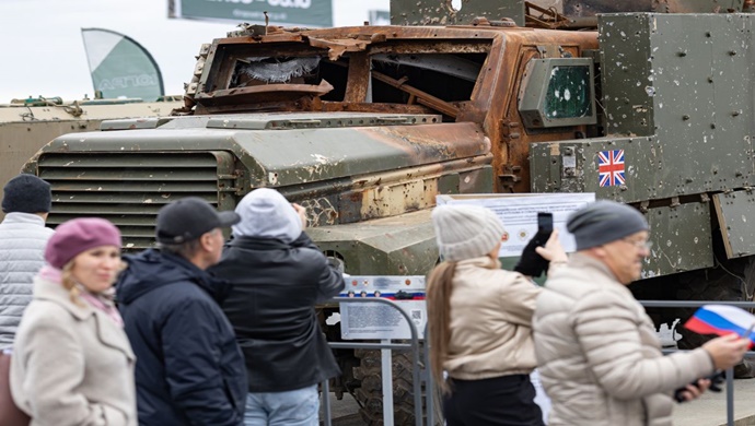
[[[173,0],[172,17],[265,23],[271,25],[333,26],[332,0]]]

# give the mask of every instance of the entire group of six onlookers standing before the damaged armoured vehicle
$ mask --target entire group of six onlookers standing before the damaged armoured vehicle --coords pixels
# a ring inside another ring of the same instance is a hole
[[[314,307],[345,283],[307,237],[304,208],[266,188],[234,212],[175,200],[158,213],[156,248],[126,256],[111,222],[53,230],[50,208],[43,179],[4,187],[3,425],[318,425],[318,383],[340,370]],[[572,213],[574,253],[554,230],[513,271],[501,269],[504,230],[490,210],[441,205],[431,217],[442,262],[428,280],[430,367],[449,426],[544,425],[536,367],[551,426],[671,425],[672,397],[697,398],[751,345],[729,335],[662,355],[627,288],[649,255],[631,206]],[[544,287],[533,262],[549,262]]]

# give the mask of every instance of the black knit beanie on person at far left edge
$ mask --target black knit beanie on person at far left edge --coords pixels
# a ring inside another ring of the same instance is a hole
[[[3,188],[4,213],[47,213],[53,208],[50,185],[34,175],[22,174]]]

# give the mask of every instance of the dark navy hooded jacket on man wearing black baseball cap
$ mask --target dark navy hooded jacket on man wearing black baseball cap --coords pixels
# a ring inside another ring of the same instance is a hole
[[[241,425],[244,359],[218,305],[228,283],[151,249],[126,261],[116,296],[137,355],[139,424]]]

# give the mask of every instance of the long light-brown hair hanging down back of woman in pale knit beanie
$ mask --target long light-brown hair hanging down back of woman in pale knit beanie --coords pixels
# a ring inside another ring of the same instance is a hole
[[[449,356],[451,340],[451,292],[456,262],[442,262],[428,277],[427,307],[430,333],[430,372],[444,394],[451,387],[443,379],[443,362]]]

